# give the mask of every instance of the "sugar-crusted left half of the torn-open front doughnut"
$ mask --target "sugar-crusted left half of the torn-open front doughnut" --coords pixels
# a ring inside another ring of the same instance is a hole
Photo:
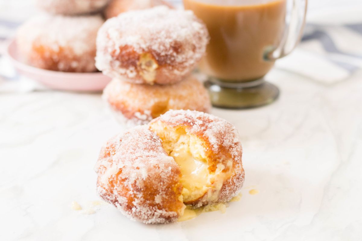
[[[176,221],[184,208],[179,200],[180,168],[148,126],[112,138],[102,148],[95,170],[98,194],[130,219],[167,223]],[[174,187],[178,194],[170,191]]]

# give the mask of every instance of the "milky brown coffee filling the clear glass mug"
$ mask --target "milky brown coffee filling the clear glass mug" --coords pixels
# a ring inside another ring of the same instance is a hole
[[[274,65],[265,49],[278,46],[285,29],[286,0],[184,0],[207,25],[210,43],[199,67],[227,82],[263,77]]]

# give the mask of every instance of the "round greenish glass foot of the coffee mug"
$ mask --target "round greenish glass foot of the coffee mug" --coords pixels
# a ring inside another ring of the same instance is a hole
[[[215,78],[205,82],[214,107],[248,109],[273,103],[279,96],[279,89],[263,78],[251,82],[229,83]]]

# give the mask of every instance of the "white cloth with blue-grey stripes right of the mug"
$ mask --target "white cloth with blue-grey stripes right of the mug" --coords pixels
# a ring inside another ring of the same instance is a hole
[[[343,81],[362,69],[362,23],[307,24],[298,48],[275,66],[325,85]]]

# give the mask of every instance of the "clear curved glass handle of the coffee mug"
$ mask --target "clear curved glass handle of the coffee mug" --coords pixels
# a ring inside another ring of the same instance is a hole
[[[275,61],[289,55],[302,38],[306,23],[308,0],[291,0],[290,16],[286,16],[287,28],[279,46],[270,46],[265,49],[264,60]],[[288,19],[290,20],[288,21]]]

